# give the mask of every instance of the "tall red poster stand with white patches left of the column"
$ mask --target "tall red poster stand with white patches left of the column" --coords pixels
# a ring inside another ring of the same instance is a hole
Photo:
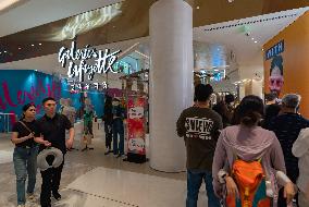
[[[143,97],[129,96],[127,100],[127,153],[146,157],[145,149],[145,118],[146,99]]]

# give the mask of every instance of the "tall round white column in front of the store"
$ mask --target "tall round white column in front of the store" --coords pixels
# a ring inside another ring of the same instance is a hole
[[[184,139],[176,134],[182,110],[193,105],[193,9],[182,0],[150,8],[150,166],[185,170]]]

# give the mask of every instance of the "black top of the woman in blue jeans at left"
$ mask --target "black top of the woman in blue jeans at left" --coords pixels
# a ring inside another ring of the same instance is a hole
[[[37,125],[36,121],[33,121],[33,122],[25,122],[25,121],[23,121],[23,123],[28,129],[26,129],[21,122],[16,122],[13,125],[12,132],[17,132],[18,133],[17,138],[21,138],[21,137],[24,137],[24,136],[28,136],[30,134],[29,130],[34,133],[35,137],[39,136],[39,130],[38,130],[38,125]],[[23,143],[15,144],[16,147],[34,147],[35,145],[36,145],[36,142],[34,141],[34,138],[29,138],[29,139],[26,139]]]

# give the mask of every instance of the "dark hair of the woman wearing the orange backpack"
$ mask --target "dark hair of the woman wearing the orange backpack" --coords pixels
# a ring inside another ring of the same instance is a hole
[[[263,100],[258,96],[249,95],[240,101],[237,115],[243,125],[250,127],[260,121],[263,111]]]

